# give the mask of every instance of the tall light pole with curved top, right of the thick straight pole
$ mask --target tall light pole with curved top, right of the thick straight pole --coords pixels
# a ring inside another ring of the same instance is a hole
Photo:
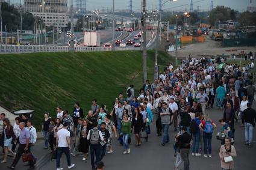
[[[166,4],[167,2],[170,1],[177,1],[177,0],[168,0],[163,2],[163,4],[161,4],[160,9],[159,9],[159,20],[157,21],[157,44],[155,45],[155,68],[154,68],[154,79],[158,79],[158,65],[157,65],[157,58],[158,58],[158,48],[159,48],[159,32],[160,32],[160,22],[161,22],[161,11],[162,11],[162,7],[164,4]]]

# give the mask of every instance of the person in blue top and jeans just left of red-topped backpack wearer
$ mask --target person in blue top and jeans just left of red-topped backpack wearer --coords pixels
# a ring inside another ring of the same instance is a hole
[[[190,133],[192,134],[192,156],[201,156],[199,153],[199,141],[201,132],[199,130],[199,124],[201,123],[202,113],[197,112],[195,118],[190,123]]]

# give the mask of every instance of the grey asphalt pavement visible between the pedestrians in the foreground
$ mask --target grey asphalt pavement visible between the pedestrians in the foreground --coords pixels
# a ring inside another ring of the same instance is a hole
[[[255,105],[255,103],[254,103]],[[215,108],[207,110],[207,114],[210,114],[213,121],[217,124],[217,129],[214,130],[213,135],[213,153],[211,158],[204,157],[192,157],[190,154],[190,169],[194,170],[215,170],[220,169],[220,159],[219,159],[219,149],[220,141],[216,139],[216,133],[219,132],[220,124],[217,122],[223,112]],[[234,158],[235,168],[239,170],[255,170],[255,153],[256,153],[256,130],[254,129],[254,141],[251,147],[248,147],[244,144],[244,129],[240,127],[240,122],[236,123],[236,139],[234,146],[236,147],[237,157]],[[134,147],[134,135],[131,139],[131,153],[122,154],[123,148],[117,144],[116,140],[113,140],[113,154],[107,154],[102,160],[105,163],[105,169],[108,170],[139,170],[139,169],[148,169],[148,170],[162,170],[162,169],[174,169],[175,157],[173,156],[173,126],[169,129],[170,143],[166,144],[164,147],[160,145],[162,137],[158,137],[155,134],[155,123],[151,125],[152,133],[149,135],[148,142],[142,139],[141,147]],[[50,160],[49,150],[43,150],[43,141],[40,140],[37,142],[34,147],[34,154],[38,157],[37,169],[55,169],[55,160]],[[87,160],[82,160],[83,156],[72,157],[71,162],[75,163],[74,169],[91,169],[90,157]],[[1,164],[1,170],[7,165],[10,165],[13,159],[8,158],[8,163]],[[67,169],[66,166],[66,157],[63,155],[61,159],[61,167]],[[22,161],[20,160],[17,169],[25,169]],[[182,168],[182,167],[181,167]]]

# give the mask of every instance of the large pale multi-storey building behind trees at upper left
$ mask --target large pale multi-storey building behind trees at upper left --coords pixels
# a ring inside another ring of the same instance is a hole
[[[24,8],[43,19],[46,26],[67,27],[67,0],[24,0]]]

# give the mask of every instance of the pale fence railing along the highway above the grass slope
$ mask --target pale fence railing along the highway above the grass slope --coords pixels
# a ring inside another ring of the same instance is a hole
[[[75,52],[110,51],[106,47],[75,47]],[[69,52],[67,46],[0,45],[0,53]]]

